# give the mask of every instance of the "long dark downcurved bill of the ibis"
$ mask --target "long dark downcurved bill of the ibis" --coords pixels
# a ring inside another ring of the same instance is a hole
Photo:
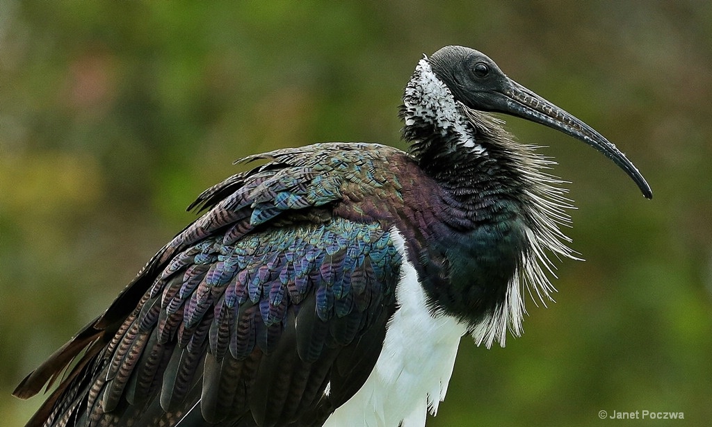
[[[548,102],[543,97],[528,90],[514,80],[510,79],[509,83],[510,85],[506,86],[503,90],[503,95],[505,95],[507,99],[506,111],[503,112],[521,117],[522,119],[535,121],[539,124],[544,124],[584,141],[586,144],[604,153],[604,155],[614,161],[619,168],[622,168],[638,185],[638,188],[640,188],[646,198],[653,198],[650,185],[648,185],[645,178],[643,178],[643,175],[634,164],[629,161],[616,146],[605,139],[604,136],[583,121],[565,112],[565,110],[560,109],[551,102]]]

